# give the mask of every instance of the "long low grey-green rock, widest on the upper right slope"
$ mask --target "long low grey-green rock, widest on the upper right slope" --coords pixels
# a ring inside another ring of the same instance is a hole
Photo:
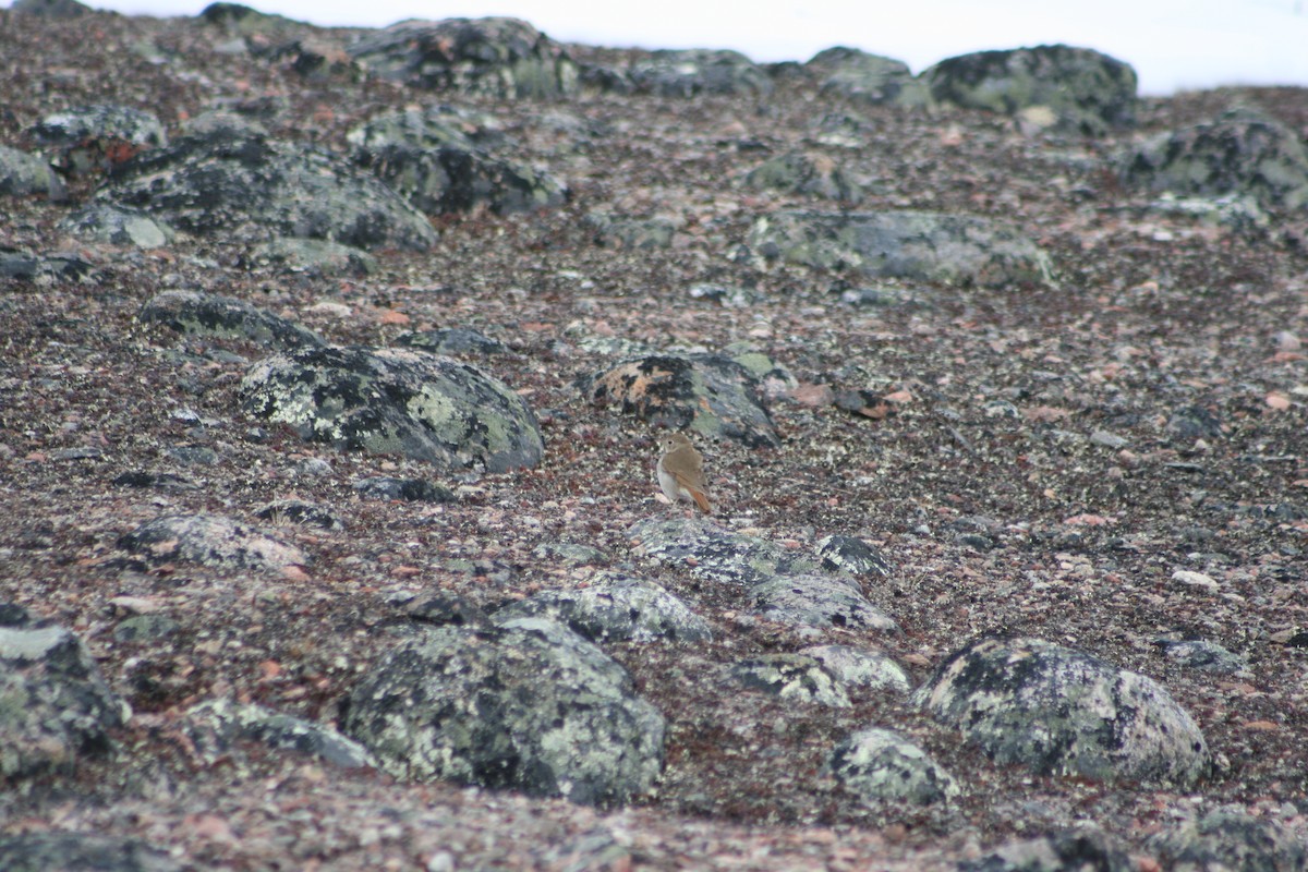
[[[747,246],[776,261],[865,276],[997,286],[1046,281],[1049,258],[1016,229],[935,212],[777,212],[755,221]]]

